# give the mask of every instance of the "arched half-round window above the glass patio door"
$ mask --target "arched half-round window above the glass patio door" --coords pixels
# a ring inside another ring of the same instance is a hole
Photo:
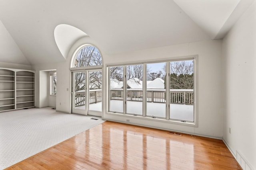
[[[88,45],[78,51],[73,66],[84,67],[97,65],[102,65],[102,56],[100,51],[96,47]]]

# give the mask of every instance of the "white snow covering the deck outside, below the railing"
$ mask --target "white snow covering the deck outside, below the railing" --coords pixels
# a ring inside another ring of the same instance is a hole
[[[102,102],[96,104],[90,104],[89,110],[102,111]],[[77,109],[84,109],[84,106],[80,106]],[[166,104],[164,103],[152,103],[147,102],[147,115],[156,117],[165,116]],[[110,100],[110,111],[123,112],[122,100]],[[127,101],[127,113],[142,115],[142,102]],[[170,118],[194,121],[194,107],[193,105],[185,104],[170,104]]]

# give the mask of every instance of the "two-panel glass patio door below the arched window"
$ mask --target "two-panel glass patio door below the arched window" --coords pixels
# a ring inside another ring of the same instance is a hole
[[[102,117],[102,70],[72,72],[72,113]]]

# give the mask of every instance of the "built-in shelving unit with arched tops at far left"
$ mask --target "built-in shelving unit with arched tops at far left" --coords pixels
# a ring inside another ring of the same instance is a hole
[[[35,71],[0,68],[0,111],[35,107]]]

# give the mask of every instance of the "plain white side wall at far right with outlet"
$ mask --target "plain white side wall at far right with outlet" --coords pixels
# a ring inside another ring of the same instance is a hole
[[[223,57],[223,139],[234,154],[240,152],[256,169],[256,2],[224,38]]]

